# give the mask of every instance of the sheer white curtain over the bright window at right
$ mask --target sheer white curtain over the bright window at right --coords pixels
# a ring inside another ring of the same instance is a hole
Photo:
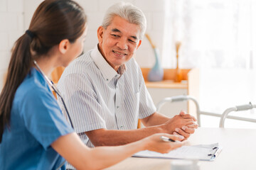
[[[256,1],[166,0],[162,63],[201,70],[204,111],[256,104]],[[253,111],[246,115],[254,117]]]

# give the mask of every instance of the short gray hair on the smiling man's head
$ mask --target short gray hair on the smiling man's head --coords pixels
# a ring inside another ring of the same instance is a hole
[[[127,2],[119,2],[110,6],[105,13],[102,21],[102,27],[107,29],[110,26],[114,16],[119,16],[126,19],[129,23],[134,23],[139,26],[139,40],[142,40],[146,31],[146,17],[141,9]]]

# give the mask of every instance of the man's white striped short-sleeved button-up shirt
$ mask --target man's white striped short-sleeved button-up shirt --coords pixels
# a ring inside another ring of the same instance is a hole
[[[156,111],[134,58],[118,71],[107,63],[96,45],[71,62],[58,81],[75,131],[88,147],[94,146],[84,132],[137,129],[139,118]],[[65,113],[63,104],[58,103]]]

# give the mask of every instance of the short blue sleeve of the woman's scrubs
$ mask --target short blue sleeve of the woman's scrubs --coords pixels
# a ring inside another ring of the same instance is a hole
[[[53,94],[47,89],[31,89],[21,103],[21,115],[27,130],[44,149],[58,137],[74,132],[61,113]]]

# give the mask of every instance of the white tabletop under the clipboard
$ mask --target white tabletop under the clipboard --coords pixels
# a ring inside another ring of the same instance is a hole
[[[201,170],[256,169],[256,130],[228,128],[198,128],[189,138],[190,145],[218,142],[223,150],[213,162],[199,162]],[[107,170],[139,169],[170,170],[173,159],[129,157]]]

